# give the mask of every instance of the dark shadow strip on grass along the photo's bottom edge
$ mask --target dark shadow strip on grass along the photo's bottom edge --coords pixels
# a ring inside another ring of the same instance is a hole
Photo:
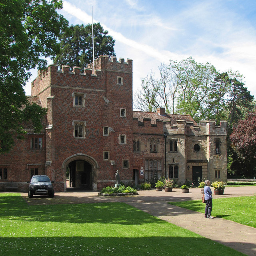
[[[85,230],[86,233],[86,230]],[[92,234],[95,236],[95,234]],[[207,238],[180,236],[146,237],[18,237],[1,238],[2,256],[70,256],[70,255],[176,255],[176,256],[243,256],[232,248],[226,247]],[[226,244],[229,246],[229,244]],[[247,248],[254,245],[245,243]]]

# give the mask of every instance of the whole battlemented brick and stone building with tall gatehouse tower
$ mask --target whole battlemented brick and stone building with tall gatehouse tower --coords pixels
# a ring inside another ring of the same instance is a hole
[[[132,110],[132,60],[100,56],[81,71],[51,64],[32,82],[31,101],[48,109],[43,129],[0,156],[0,189],[47,174],[55,191],[100,190],[115,183],[226,181],[226,121],[199,124],[189,115]]]

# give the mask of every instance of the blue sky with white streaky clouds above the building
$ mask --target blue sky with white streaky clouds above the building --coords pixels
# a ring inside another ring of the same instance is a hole
[[[134,92],[161,63],[192,56],[220,72],[238,70],[256,98],[255,0],[63,0],[60,13],[69,24],[88,24],[92,6],[94,22],[116,40],[116,57],[133,60]]]

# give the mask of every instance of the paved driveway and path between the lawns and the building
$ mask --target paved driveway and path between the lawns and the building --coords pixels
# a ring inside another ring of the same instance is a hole
[[[251,228],[222,218],[205,219],[204,214],[168,204],[170,201],[202,199],[200,189],[190,189],[190,193],[182,194],[181,190],[172,192],[139,191],[138,196],[102,197],[98,192],[68,192],[56,193],[54,198],[39,196],[28,198],[21,193],[29,204],[63,204],[92,202],[125,202],[144,212],[166,220],[182,228],[186,228],[210,238],[216,242],[234,248],[244,254],[256,256],[256,228]],[[252,196],[256,187],[227,187],[223,196],[214,198]],[[213,206],[214,207],[214,206]]]

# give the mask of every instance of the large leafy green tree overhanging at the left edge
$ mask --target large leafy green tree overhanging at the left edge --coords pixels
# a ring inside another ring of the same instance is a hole
[[[29,102],[22,86],[30,69],[44,68],[58,52],[57,37],[68,25],[61,8],[61,0],[0,1],[0,153],[26,133],[25,121],[35,132],[42,128],[46,109]]]

